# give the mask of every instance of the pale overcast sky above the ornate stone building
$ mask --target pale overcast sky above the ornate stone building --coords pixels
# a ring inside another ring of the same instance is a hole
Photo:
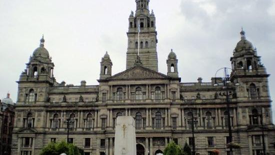
[[[243,26],[271,74],[274,99],[275,0],[150,0],[149,7],[156,16],[160,72],[167,72],[173,48],[182,82],[210,81],[218,68],[230,67]],[[112,74],[124,70],[130,10],[135,0],[0,0],[0,98],[9,91],[16,101],[15,81],[42,34],[57,82],[98,84],[105,51]]]

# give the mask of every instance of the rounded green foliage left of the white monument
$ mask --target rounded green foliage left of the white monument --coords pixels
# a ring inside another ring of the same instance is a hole
[[[72,143],[61,142],[51,142],[42,148],[40,155],[60,155],[61,153],[66,153],[67,155],[83,155],[82,149],[76,147]]]

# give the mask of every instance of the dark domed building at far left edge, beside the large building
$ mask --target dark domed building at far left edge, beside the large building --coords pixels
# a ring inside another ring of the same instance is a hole
[[[9,93],[0,100],[0,155],[9,155],[14,120],[14,107]]]

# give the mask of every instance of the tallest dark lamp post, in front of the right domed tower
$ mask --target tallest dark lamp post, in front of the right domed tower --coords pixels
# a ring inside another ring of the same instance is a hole
[[[219,95],[223,95],[226,97],[226,111],[227,111],[227,125],[228,125],[228,132],[229,132],[229,143],[232,142],[232,128],[231,128],[231,119],[230,119],[230,100],[229,100],[229,93],[228,93],[228,83],[231,83],[230,81],[230,75],[228,73],[228,69],[232,70],[231,68],[227,68],[227,67],[223,67],[220,68],[216,71],[215,73],[215,83],[214,86],[218,86],[218,83],[216,82],[216,75],[217,72],[219,72],[220,70],[223,70],[223,77],[221,77],[222,83],[223,83],[223,87],[225,89],[225,94],[219,94]],[[239,83],[236,82],[235,86],[238,86]],[[232,148],[230,147],[230,155],[232,155]]]

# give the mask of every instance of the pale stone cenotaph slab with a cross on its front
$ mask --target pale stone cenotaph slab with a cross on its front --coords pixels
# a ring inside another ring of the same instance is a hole
[[[118,116],[115,125],[114,155],[136,155],[134,119]]]

